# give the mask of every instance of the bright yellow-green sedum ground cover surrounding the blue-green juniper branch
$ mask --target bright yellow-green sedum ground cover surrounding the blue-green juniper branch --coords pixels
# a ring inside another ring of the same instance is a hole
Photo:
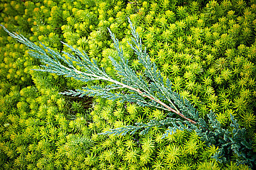
[[[68,51],[60,43],[66,42],[115,76],[108,59],[117,55],[109,27],[143,76],[127,44],[130,17],[173,90],[202,118],[214,111],[223,127],[234,115],[256,153],[256,0],[0,0],[0,11],[8,30],[57,51]],[[167,113],[136,103],[62,96],[59,92],[103,83],[31,70],[39,64],[0,28],[1,170],[249,169],[236,167],[232,155],[233,161],[217,163],[211,158],[217,148],[185,131],[166,139],[160,139],[165,129],[158,127],[147,136],[98,136]]]

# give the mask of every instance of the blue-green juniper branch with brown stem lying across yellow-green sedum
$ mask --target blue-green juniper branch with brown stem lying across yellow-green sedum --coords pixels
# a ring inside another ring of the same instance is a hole
[[[68,90],[61,93],[65,95],[79,96],[101,96],[109,100],[121,100],[120,102],[137,102],[141,106],[153,106],[166,111],[169,111],[169,116],[174,113],[183,118],[166,118],[164,120],[150,120],[148,123],[136,123],[135,126],[129,125],[117,129],[110,129],[110,131],[101,133],[101,135],[126,135],[127,133],[134,134],[138,130],[141,135],[146,134],[153,126],[172,125],[168,127],[168,130],[163,137],[168,134],[173,134],[177,130],[195,130],[197,135],[201,137],[208,145],[215,144],[218,146],[218,153],[215,154],[219,162],[226,162],[233,156],[233,152],[236,154],[237,163],[247,163],[251,166],[255,164],[256,155],[251,150],[251,143],[246,141],[245,129],[240,129],[239,124],[231,115],[232,131],[223,129],[220,122],[217,121],[216,115],[211,112],[208,115],[208,121],[199,118],[198,112],[191,105],[189,101],[182,98],[179,94],[172,91],[171,81],[167,78],[164,80],[161,72],[158,70],[156,64],[151,61],[149,55],[146,52],[146,48],[142,49],[141,39],[136,33],[135,27],[128,18],[131,32],[134,38],[132,43],[129,43],[133,51],[138,55],[139,62],[145,68],[144,72],[149,82],[144,80],[141,76],[137,76],[135,71],[130,68],[128,60],[125,59],[123,49],[121,48],[118,39],[110,32],[110,36],[114,42],[114,47],[118,52],[118,58],[115,59],[109,56],[112,61],[112,65],[122,77],[121,81],[118,81],[108,75],[103,68],[98,67],[98,63],[94,59],[90,59],[84,51],[79,51],[72,46],[63,43],[71,51],[75,52],[76,56],[62,51],[62,55],[46,46],[42,45],[42,48],[36,44],[30,42],[24,36],[10,33],[12,37],[16,38],[19,42],[27,45],[31,50],[31,56],[39,58],[45,65],[41,66],[43,69],[39,71],[46,71],[50,73],[56,73],[58,75],[64,75],[66,77],[73,77],[76,80],[88,82],[94,80],[102,80],[111,82],[111,85],[102,87],[100,85],[94,85],[91,87],[83,87],[77,90]],[[62,65],[60,61],[63,61],[66,66]],[[76,68],[76,65],[81,68],[82,71]],[[128,88],[130,93],[121,94],[113,92],[115,89]],[[150,99],[150,100],[148,100]]]

